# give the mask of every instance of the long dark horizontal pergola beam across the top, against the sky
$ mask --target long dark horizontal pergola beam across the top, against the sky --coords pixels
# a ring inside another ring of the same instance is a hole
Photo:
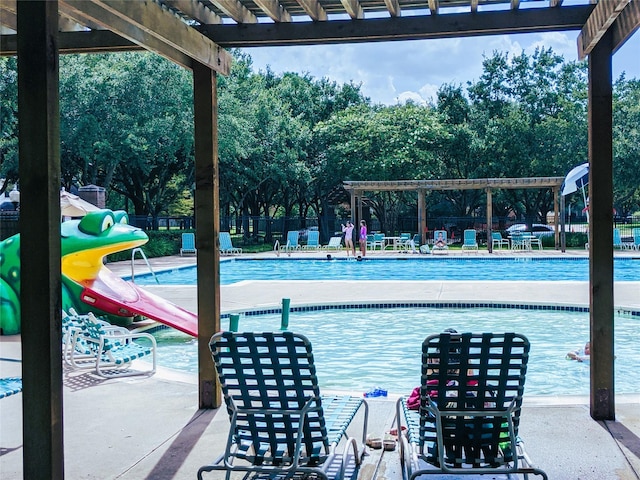
[[[462,38],[579,30],[593,9],[593,5],[580,5],[330,22],[203,25],[200,31],[225,48]]]

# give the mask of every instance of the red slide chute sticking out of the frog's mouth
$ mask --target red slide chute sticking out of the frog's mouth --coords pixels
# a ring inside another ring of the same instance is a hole
[[[142,315],[188,335],[198,335],[198,316],[158,295],[143,290],[103,268],[82,282],[80,299],[87,305],[121,317]]]

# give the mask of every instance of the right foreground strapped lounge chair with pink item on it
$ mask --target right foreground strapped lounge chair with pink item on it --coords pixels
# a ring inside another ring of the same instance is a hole
[[[427,337],[418,410],[409,409],[407,398],[396,404],[398,431],[406,425],[400,439],[403,478],[487,473],[547,478],[531,465],[518,437],[529,348],[527,338],[516,333]]]

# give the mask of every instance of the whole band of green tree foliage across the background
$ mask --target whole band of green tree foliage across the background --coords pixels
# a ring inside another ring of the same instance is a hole
[[[224,216],[321,217],[344,180],[563,176],[587,159],[586,64],[551,49],[494,52],[467,85],[433,104],[378,105],[360,85],[256,72],[233,51],[219,77],[220,202]],[[640,82],[614,85],[614,204],[640,209]],[[0,59],[0,178],[17,174],[16,62]],[[106,188],[137,215],[189,213],[194,184],[188,71],[151,53],[68,55],[60,66],[64,186]],[[579,196],[570,198],[580,202]],[[372,192],[383,226],[415,209],[400,192]],[[430,192],[427,208],[481,212],[482,191]],[[494,211],[544,221],[549,191],[494,193]]]

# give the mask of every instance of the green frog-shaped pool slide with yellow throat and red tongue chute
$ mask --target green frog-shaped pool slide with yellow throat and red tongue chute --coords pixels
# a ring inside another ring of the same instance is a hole
[[[94,312],[111,320],[134,315],[164,323],[196,336],[198,317],[115,275],[104,265],[106,255],[139,247],[149,237],[128,224],[124,211],[97,210],[60,226],[62,308]],[[0,331],[20,333],[20,235],[0,242]]]

